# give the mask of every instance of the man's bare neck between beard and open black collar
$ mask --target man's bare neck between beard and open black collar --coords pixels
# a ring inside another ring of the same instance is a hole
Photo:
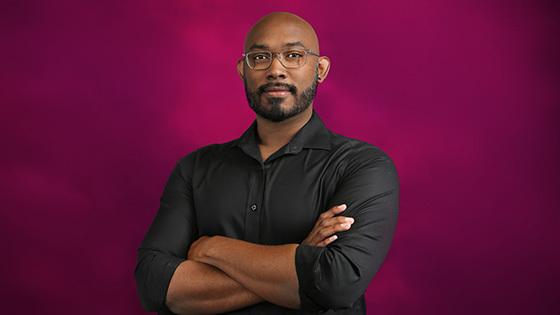
[[[257,115],[257,132],[260,138],[260,146],[268,148],[279,148],[290,142],[292,137],[309,121],[313,114],[313,106],[294,117],[280,122],[266,120]]]

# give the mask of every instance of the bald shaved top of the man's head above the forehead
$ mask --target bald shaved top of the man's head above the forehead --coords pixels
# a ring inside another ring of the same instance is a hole
[[[272,12],[259,19],[247,33],[243,50],[248,51],[253,45],[260,45],[261,38],[279,30],[300,38],[303,46],[319,53],[319,38],[313,26],[290,12]]]

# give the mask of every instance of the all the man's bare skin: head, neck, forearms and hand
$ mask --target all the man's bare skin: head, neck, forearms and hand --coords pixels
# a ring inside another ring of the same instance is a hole
[[[291,42],[300,42],[304,48],[319,53],[319,41],[309,23],[291,13],[275,12],[251,28],[244,49],[248,51],[258,44],[266,45],[270,51],[280,51]],[[314,83],[325,80],[330,60],[326,56],[307,58],[306,64],[298,69],[284,68],[277,58],[266,70],[252,70],[243,59],[237,62],[237,71],[248,94],[269,83],[288,84],[296,90],[296,94],[286,95],[281,100],[259,95],[257,103],[253,104],[261,106],[260,110],[280,110],[287,116],[281,121],[272,121],[256,113],[263,161],[288,143],[311,118],[312,101],[304,110],[293,113],[302,93]],[[321,214],[301,244],[327,246],[334,242],[333,234],[349,229],[353,223],[352,218],[338,215],[345,209],[345,205],[335,206]],[[222,313],[263,301],[299,309],[294,263],[298,245],[265,246],[224,236],[201,236],[191,244],[187,260],[175,271],[166,304],[176,314]]]

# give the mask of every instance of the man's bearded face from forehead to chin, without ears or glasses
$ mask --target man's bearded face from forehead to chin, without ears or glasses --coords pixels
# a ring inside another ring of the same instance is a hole
[[[267,25],[255,32],[247,51],[309,49],[311,47],[306,42],[310,39],[307,37],[297,25]],[[303,112],[311,105],[317,92],[317,65],[317,57],[309,54],[305,64],[295,69],[285,68],[278,56],[272,59],[272,64],[265,70],[254,70],[244,63],[243,83],[249,106],[258,115],[274,122]]]

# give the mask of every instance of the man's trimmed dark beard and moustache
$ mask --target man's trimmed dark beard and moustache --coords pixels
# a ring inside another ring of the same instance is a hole
[[[285,83],[267,83],[261,85],[256,91],[249,91],[247,88],[247,79],[243,79],[245,85],[245,95],[247,96],[247,101],[249,102],[249,107],[259,116],[274,122],[280,122],[293,117],[304,110],[306,110],[315,95],[317,94],[317,85],[319,82],[319,75],[317,69],[315,69],[315,78],[311,86],[305,89],[301,95],[297,94],[297,88],[290,84]],[[265,106],[261,103],[261,95],[265,92],[268,87],[271,86],[282,86],[288,89],[288,91],[294,96],[294,105],[287,109],[282,109],[282,103],[286,101],[282,97],[268,97],[269,106]]]

